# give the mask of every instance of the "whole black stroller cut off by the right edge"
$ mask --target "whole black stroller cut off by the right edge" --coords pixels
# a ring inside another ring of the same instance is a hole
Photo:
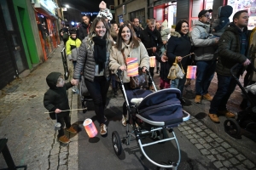
[[[256,134],[256,92],[250,91],[250,89],[255,88],[256,84],[253,84],[251,86],[247,86],[246,88],[243,88],[241,85],[241,82],[239,82],[239,79],[234,74],[234,69],[239,64],[234,65],[230,69],[230,73],[233,78],[235,78],[238,86],[241,88],[241,93],[245,99],[248,100],[248,107],[245,111],[240,111],[237,115],[237,119],[227,119],[224,121],[224,130],[226,133],[228,133],[231,137],[236,139],[241,139],[241,128],[246,130],[249,133]],[[253,66],[253,65],[252,65]],[[253,67],[253,71],[256,71],[256,69]],[[255,87],[253,87],[255,86]],[[246,134],[246,133],[245,133]],[[255,137],[253,137],[255,139]]]

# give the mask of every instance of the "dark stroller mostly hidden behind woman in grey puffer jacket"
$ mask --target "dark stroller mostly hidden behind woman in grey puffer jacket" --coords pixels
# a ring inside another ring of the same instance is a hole
[[[83,113],[86,113],[86,111],[88,110],[87,108],[88,102],[92,101],[92,99],[90,98],[88,89],[85,86],[84,76],[81,76],[79,80],[79,94],[80,94],[81,104],[83,108]]]

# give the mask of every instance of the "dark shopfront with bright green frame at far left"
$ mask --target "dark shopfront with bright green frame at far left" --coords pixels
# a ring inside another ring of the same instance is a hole
[[[32,26],[30,0],[0,0],[0,89],[26,76],[42,60]],[[35,23],[35,22],[34,22]]]

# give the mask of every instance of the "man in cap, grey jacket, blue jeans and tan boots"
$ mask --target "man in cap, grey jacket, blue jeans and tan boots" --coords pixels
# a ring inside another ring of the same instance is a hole
[[[195,26],[191,31],[191,42],[194,45],[196,69],[195,80],[195,103],[201,103],[201,99],[212,100],[208,94],[208,88],[212,81],[216,67],[216,56],[214,55],[218,48],[218,37],[210,37],[210,13],[212,9],[203,9],[198,14],[198,20],[195,20]]]

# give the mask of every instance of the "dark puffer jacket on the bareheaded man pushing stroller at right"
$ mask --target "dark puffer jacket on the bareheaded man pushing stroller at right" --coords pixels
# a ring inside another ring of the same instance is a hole
[[[243,29],[247,34],[247,40],[249,32],[247,27]],[[247,45],[248,47],[248,45]],[[223,76],[231,76],[230,69],[237,63],[244,63],[249,58],[248,50],[246,54],[240,54],[241,51],[241,31],[239,28],[231,23],[229,27],[224,31],[224,34],[218,40],[218,63],[216,66],[216,72]],[[235,74],[238,71],[234,70]]]

